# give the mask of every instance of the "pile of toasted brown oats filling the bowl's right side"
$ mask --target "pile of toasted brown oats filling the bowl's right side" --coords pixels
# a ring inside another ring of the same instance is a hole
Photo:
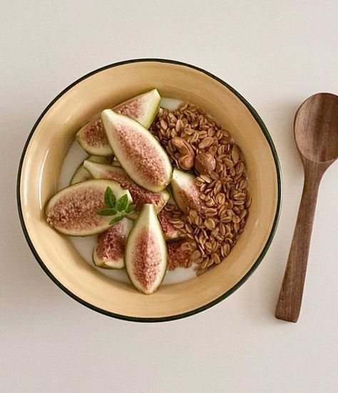
[[[182,249],[189,249],[194,255],[185,262],[185,267],[194,263],[200,276],[227,257],[245,227],[251,204],[245,162],[230,133],[192,104],[183,104],[172,112],[160,108],[150,131],[168,152],[174,167],[195,165],[200,211],[190,210],[185,216],[170,204],[167,207],[173,214],[170,222],[185,236]],[[195,156],[194,163],[192,159],[188,163],[183,160],[185,152],[173,145],[172,139],[178,136],[185,146],[190,146],[187,154]],[[203,154],[212,157],[212,165],[207,167],[200,162]]]

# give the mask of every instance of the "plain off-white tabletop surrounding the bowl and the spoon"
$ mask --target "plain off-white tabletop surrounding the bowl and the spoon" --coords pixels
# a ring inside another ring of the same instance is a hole
[[[338,163],[324,175],[302,313],[274,318],[302,190],[292,121],[318,91],[338,93],[332,1],[0,0],[2,392],[337,392]],[[175,322],[91,311],[35,261],[16,212],[16,172],[41,111],[115,61],[177,59],[207,69],[257,109],[282,165],[280,225],[235,294]]]

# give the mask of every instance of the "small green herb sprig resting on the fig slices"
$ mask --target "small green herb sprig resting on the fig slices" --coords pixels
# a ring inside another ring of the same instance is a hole
[[[96,214],[99,216],[115,216],[120,213],[118,216],[114,217],[109,225],[115,225],[121,219],[124,219],[128,214],[133,213],[135,210],[135,204],[128,204],[128,196],[124,194],[120,199],[116,200],[116,196],[113,193],[111,187],[107,187],[106,192],[104,194],[104,204],[105,209],[98,210]]]

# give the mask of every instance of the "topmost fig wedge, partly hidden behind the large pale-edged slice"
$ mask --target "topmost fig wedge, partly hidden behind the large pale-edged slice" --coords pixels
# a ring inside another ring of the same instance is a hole
[[[118,104],[114,111],[137,120],[148,129],[160,106],[160,94],[156,89],[135,96],[122,104]],[[76,139],[82,148],[89,154],[109,156],[113,154],[103,130],[100,116],[88,121],[76,134]]]

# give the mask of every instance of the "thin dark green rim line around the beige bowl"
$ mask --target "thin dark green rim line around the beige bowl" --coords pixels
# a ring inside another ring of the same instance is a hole
[[[29,146],[29,141],[31,140],[31,137],[34,134],[34,131],[36,130],[36,127],[39,125],[41,119],[43,118],[43,116],[46,114],[46,112],[51,108],[51,106],[53,106],[53,104],[55,104],[55,102],[61,98],[61,96],[63,96],[63,94],[65,94],[69,89],[71,89],[73,86],[76,86],[76,84],[78,84],[79,82],[83,81],[84,79],[87,79],[88,77],[103,71],[105,69],[110,69],[116,66],[122,66],[124,64],[130,64],[130,63],[140,63],[140,62],[155,62],[155,63],[168,63],[168,64],[178,64],[180,66],[186,66],[188,68],[191,69],[195,69],[197,71],[203,72],[203,74],[206,74],[208,76],[210,76],[210,78],[215,79],[215,81],[218,81],[220,84],[222,84],[223,86],[225,86],[227,89],[229,89],[230,91],[232,91],[233,94],[235,94],[235,96],[237,96],[238,99],[240,99],[240,101],[242,101],[243,104],[245,104],[245,106],[247,107],[247,109],[249,109],[250,113],[252,114],[252,116],[255,118],[255,120],[257,121],[257,124],[259,124],[260,128],[262,129],[263,134],[265,135],[265,138],[267,139],[267,143],[270,145],[270,149],[272,151],[272,156],[274,158],[275,161],[275,167],[276,167],[276,174],[277,174],[277,207],[276,207],[276,212],[275,212],[275,219],[274,222],[272,224],[272,229],[270,231],[270,235],[267,239],[267,242],[265,243],[265,247],[262,249],[262,252],[260,253],[260,256],[257,258],[255,264],[252,265],[251,269],[249,270],[249,272],[247,272],[247,274],[245,274],[244,277],[242,277],[242,279],[240,279],[239,282],[237,282],[237,284],[235,284],[232,288],[230,288],[229,290],[227,290],[227,292],[225,292],[224,294],[222,294],[220,297],[217,297],[217,299],[213,300],[212,302],[205,304],[201,307],[198,307],[197,309],[193,309],[190,312],[184,312],[183,314],[175,314],[175,315],[171,315],[170,317],[158,317],[158,318],[154,318],[154,317],[128,317],[126,315],[121,315],[121,314],[116,314],[113,312],[108,312],[105,309],[101,309],[99,307],[94,306],[93,304],[90,304],[86,301],[84,301],[83,299],[81,299],[80,297],[76,296],[76,294],[73,294],[73,292],[71,292],[69,289],[67,289],[66,287],[63,286],[63,284],[61,284],[61,282],[58,281],[58,279],[56,279],[56,277],[53,276],[53,274],[51,274],[51,272],[48,270],[48,268],[46,267],[46,265],[43,263],[42,259],[39,257],[39,254],[36,252],[36,249],[34,247],[34,244],[31,242],[31,239],[29,237],[27,228],[26,228],[26,224],[24,222],[24,215],[21,209],[21,197],[20,197],[20,184],[21,184],[21,171],[22,171],[22,165],[24,162],[24,157],[26,154],[26,150]],[[257,269],[258,265],[260,264],[260,262],[262,262],[262,259],[265,257],[265,254],[267,253],[267,249],[269,249],[270,244],[272,242],[272,239],[275,235],[276,229],[277,229],[277,224],[278,224],[278,220],[280,218],[280,209],[281,209],[281,202],[282,202],[282,176],[281,176],[281,169],[280,169],[280,161],[278,159],[277,156],[277,151],[275,149],[275,145],[272,142],[272,138],[269,134],[269,131],[267,131],[267,127],[265,126],[264,122],[262,121],[262,119],[260,118],[260,116],[257,114],[257,111],[255,111],[255,109],[249,104],[249,102],[240,94],[238,93],[238,91],[236,91],[232,86],[230,86],[229,84],[227,84],[225,81],[222,81],[222,79],[218,78],[217,76],[211,74],[208,71],[205,71],[204,69],[201,69],[197,66],[193,66],[191,64],[187,64],[187,63],[183,63],[182,61],[176,61],[176,60],[169,60],[169,59],[130,59],[130,60],[126,60],[126,61],[119,61],[117,63],[113,63],[113,64],[109,64],[107,66],[103,66],[99,69],[96,69],[95,71],[91,71],[88,74],[86,74],[85,76],[82,76],[81,78],[77,79],[76,81],[74,81],[72,84],[70,84],[68,87],[66,87],[66,89],[64,89],[63,91],[61,91],[60,94],[58,94],[53,101],[51,101],[50,104],[48,104],[48,106],[46,107],[46,109],[44,109],[44,111],[42,112],[42,114],[39,116],[39,119],[37,119],[36,123],[34,124],[33,128],[31,129],[31,132],[29,134],[29,137],[26,141],[26,144],[24,145],[24,150],[21,154],[21,159],[20,159],[20,164],[19,164],[19,171],[18,171],[18,177],[17,177],[17,182],[16,182],[16,199],[17,199],[17,204],[18,204],[18,210],[19,210],[19,218],[20,218],[20,222],[21,222],[21,227],[24,231],[24,235],[26,237],[26,242],[29,244],[29,247],[31,249],[31,252],[34,254],[34,257],[36,258],[37,262],[39,262],[41,268],[43,269],[43,271],[48,275],[48,277],[50,279],[53,280],[53,282],[55,282],[55,284],[60,287],[63,292],[66,292],[66,294],[68,294],[70,297],[72,297],[73,299],[75,299],[77,302],[83,304],[84,306],[96,311],[96,312],[100,312],[101,314],[105,314],[108,315],[109,317],[114,317],[117,319],[123,319],[126,321],[132,321],[132,322],[167,322],[167,321],[173,321],[175,319],[181,319],[181,318],[185,318],[185,317],[190,317],[190,315],[194,315],[194,314],[198,314],[199,312],[203,312],[204,310],[214,306],[215,304],[221,302],[222,300],[224,300],[225,298],[227,298],[228,296],[230,296],[230,294],[232,294],[233,292],[235,292],[236,289],[238,289],[242,284],[244,284],[247,279],[251,276],[251,274],[253,272],[255,272],[255,270]]]

